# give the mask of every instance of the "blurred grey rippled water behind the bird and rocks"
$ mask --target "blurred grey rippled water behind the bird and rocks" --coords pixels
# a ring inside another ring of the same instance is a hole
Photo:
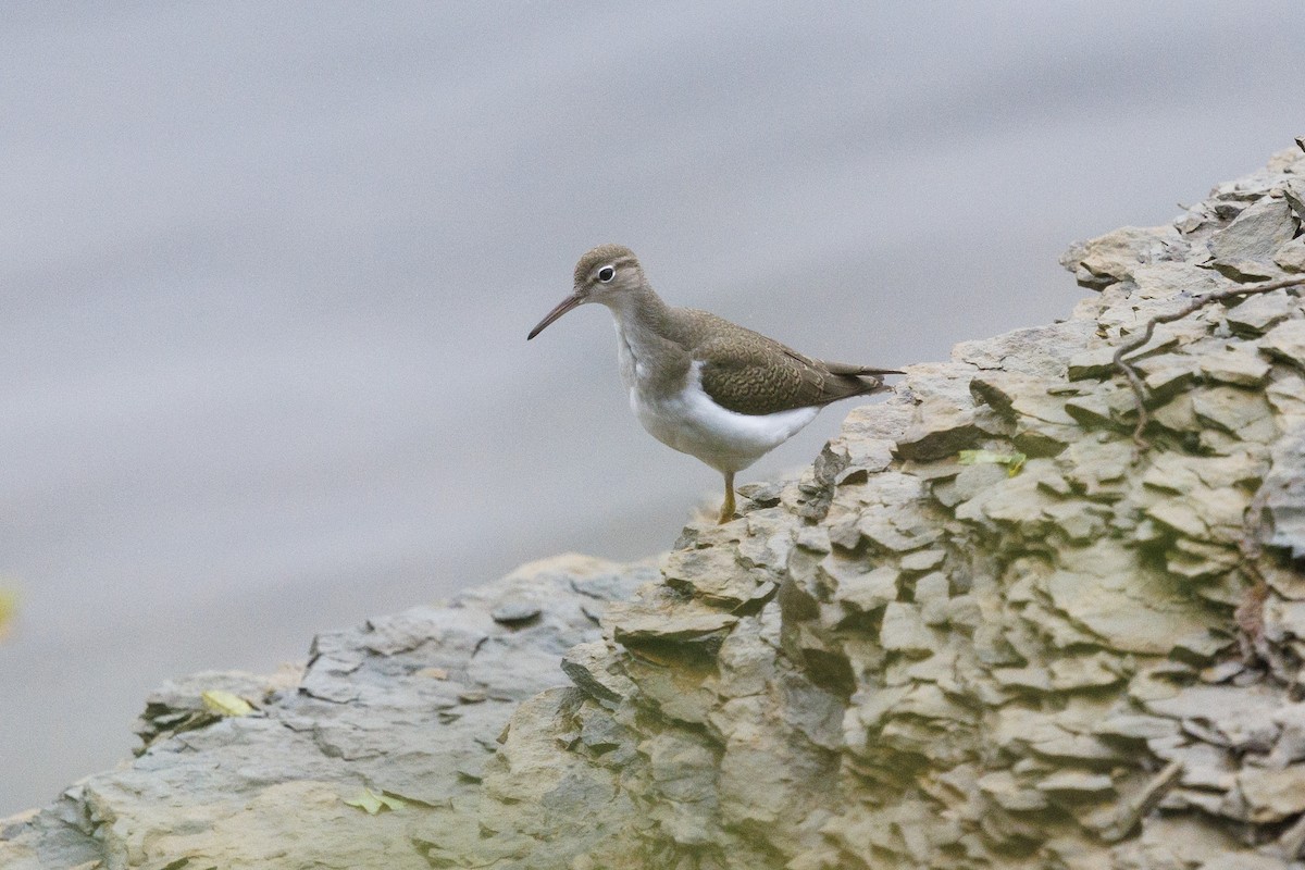
[[[667,548],[719,476],[638,428],[607,312],[525,340],[589,247],[813,355],[945,359],[1305,133],[1302,44],[1298,0],[7,7],[0,815],[168,676]]]

